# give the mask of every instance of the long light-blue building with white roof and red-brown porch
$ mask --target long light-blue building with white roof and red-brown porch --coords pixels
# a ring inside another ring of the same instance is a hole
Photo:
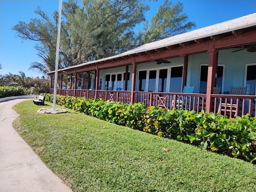
[[[48,75],[52,84],[54,71]],[[61,95],[255,116],[256,13],[61,69],[58,75]],[[69,87],[63,86],[64,76]]]

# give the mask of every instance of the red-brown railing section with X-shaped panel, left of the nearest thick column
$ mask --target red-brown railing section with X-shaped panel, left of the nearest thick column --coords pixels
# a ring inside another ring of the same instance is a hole
[[[205,110],[206,94],[195,93],[162,93],[162,92],[135,92],[135,102],[144,105],[164,107],[168,109],[195,110],[197,113]]]

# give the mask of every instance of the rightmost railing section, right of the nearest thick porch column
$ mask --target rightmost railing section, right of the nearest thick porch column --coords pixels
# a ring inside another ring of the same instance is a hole
[[[213,100],[213,112],[227,115],[230,118],[249,114],[256,116],[256,95],[222,95],[211,94]]]

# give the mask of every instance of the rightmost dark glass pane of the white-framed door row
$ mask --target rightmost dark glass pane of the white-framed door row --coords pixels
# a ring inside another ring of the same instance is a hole
[[[180,93],[182,92],[182,73],[183,67],[172,67],[171,68],[171,82],[170,92]]]

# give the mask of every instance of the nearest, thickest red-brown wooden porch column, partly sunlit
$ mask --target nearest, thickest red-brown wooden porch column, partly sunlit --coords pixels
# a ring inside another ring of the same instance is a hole
[[[208,66],[208,76],[207,76],[207,90],[206,90],[206,106],[205,112],[210,113],[212,111],[213,102],[211,100],[211,93],[213,87],[215,86],[215,74],[218,67],[218,50],[211,49],[208,50],[209,53],[209,66]]]

